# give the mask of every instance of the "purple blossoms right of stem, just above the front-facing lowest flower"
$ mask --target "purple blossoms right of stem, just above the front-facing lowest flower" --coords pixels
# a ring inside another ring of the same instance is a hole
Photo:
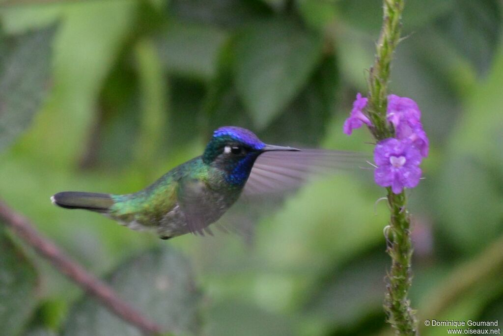
[[[430,141],[420,121],[421,111],[412,99],[389,95],[386,119],[395,127],[397,139],[409,139],[422,156],[428,156]]]

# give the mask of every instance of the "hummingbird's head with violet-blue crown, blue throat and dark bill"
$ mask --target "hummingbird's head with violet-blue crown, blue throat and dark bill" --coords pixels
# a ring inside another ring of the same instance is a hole
[[[204,151],[203,161],[223,171],[227,182],[244,185],[257,157],[263,152],[273,150],[299,149],[268,145],[247,129],[224,126],[213,132],[213,137]]]

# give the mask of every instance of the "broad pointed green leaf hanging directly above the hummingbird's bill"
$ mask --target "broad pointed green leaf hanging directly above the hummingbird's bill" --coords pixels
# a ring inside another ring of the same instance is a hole
[[[306,85],[321,57],[321,38],[290,21],[247,28],[236,41],[235,81],[259,129]]]

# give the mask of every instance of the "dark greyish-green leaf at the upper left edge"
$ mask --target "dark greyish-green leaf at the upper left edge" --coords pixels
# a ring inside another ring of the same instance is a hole
[[[48,92],[55,31],[51,26],[14,38],[0,33],[0,150],[28,127]]]

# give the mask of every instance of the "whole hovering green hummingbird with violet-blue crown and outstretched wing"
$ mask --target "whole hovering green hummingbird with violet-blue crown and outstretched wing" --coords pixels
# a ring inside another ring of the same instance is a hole
[[[153,228],[161,239],[212,234],[208,225],[243,193],[282,193],[299,186],[311,173],[361,161],[352,152],[268,145],[247,129],[225,126],[213,133],[203,155],[139,192],[60,192],[51,201],[62,208],[102,213],[132,229]]]

